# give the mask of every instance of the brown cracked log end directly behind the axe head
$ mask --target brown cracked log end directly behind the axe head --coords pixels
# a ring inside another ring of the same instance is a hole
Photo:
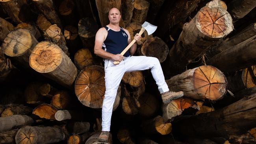
[[[139,22],[132,22],[130,23],[126,29],[129,31],[130,36],[131,36],[131,41],[134,39],[134,36],[136,35],[136,33],[139,33],[139,31],[141,30],[141,23]],[[141,42],[137,43],[139,45],[141,45],[143,42],[145,42],[148,38],[152,37],[152,35],[148,35],[147,31],[144,31],[141,34]]]

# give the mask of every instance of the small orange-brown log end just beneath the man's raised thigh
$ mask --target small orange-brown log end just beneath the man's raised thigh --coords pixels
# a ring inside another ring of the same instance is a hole
[[[125,72],[122,77],[123,83],[128,83],[132,87],[139,87],[143,82],[142,71]]]

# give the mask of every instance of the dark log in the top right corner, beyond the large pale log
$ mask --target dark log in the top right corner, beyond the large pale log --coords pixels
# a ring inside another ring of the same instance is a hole
[[[256,7],[255,0],[232,0],[228,4],[228,12],[232,16],[233,22],[247,15]]]

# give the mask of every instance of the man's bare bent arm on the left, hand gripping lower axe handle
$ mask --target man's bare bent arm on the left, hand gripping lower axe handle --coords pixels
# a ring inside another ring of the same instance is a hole
[[[102,49],[103,42],[105,41],[105,37],[108,35],[108,31],[105,28],[100,28],[95,36],[95,45],[94,45],[94,54],[105,58],[105,59],[113,59],[114,61],[121,62],[123,56],[121,54],[111,54]]]

